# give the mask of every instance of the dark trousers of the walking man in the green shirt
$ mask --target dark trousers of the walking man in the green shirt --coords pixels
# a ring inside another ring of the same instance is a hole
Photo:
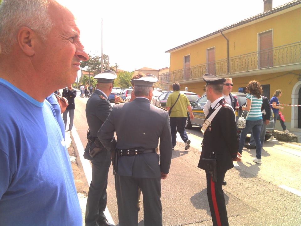
[[[187,117],[170,117],[170,131],[172,133],[172,147],[174,148],[177,143],[177,132],[184,142],[188,140],[187,133],[185,131]]]

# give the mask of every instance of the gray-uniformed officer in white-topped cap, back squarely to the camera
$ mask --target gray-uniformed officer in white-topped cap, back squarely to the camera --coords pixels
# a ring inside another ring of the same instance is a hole
[[[144,225],[162,225],[160,178],[165,179],[169,172],[172,137],[168,112],[150,104],[152,85],[157,80],[151,74],[134,79],[135,100],[114,105],[98,132],[101,143],[116,153],[114,174],[120,226],[138,225],[138,187],[143,194]],[[114,132],[117,143],[111,142]],[[160,157],[155,152],[159,138]]]

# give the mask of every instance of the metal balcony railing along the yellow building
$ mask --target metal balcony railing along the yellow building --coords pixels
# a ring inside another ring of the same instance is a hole
[[[205,73],[219,76],[294,63],[301,63],[301,41],[163,73],[160,82],[174,83],[202,78]]]

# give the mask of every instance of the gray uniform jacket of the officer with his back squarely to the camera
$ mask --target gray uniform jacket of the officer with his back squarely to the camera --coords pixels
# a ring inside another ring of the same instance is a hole
[[[117,143],[112,141],[114,131]],[[158,178],[168,173],[172,157],[172,138],[168,112],[150,104],[145,98],[116,104],[98,132],[98,138],[108,149],[156,148],[160,138],[160,164],[157,153],[121,156],[118,160],[120,176]]]

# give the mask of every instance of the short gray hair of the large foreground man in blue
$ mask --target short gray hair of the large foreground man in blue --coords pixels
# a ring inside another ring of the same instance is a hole
[[[20,27],[37,32],[46,40],[53,22],[48,14],[51,0],[3,0],[0,5],[0,54],[8,55]]]

